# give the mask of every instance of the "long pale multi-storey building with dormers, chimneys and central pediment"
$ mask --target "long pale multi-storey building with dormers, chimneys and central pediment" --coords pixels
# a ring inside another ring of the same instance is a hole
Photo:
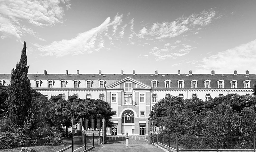
[[[0,83],[10,84],[11,74],[0,74]],[[94,98],[108,102],[115,115],[114,126],[107,129],[108,134],[133,135],[148,134],[149,111],[152,106],[165,97],[175,95],[183,99],[193,97],[208,101],[211,97],[227,94],[251,95],[256,80],[255,74],[28,74],[31,87],[48,98],[69,95],[78,98]]]

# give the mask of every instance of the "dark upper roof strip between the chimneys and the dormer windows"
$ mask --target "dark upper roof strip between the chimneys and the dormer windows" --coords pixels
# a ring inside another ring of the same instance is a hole
[[[28,74],[28,78],[40,79],[40,80],[108,80],[108,79],[117,79],[121,80],[126,77],[130,77],[135,80],[256,80],[256,74]],[[11,79],[11,74],[0,74],[0,79]]]

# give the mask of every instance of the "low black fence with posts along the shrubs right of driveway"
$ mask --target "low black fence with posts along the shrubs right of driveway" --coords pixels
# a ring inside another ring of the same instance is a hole
[[[253,149],[255,136],[175,136],[155,133],[153,142],[167,149]],[[178,146],[177,146],[178,145]]]

